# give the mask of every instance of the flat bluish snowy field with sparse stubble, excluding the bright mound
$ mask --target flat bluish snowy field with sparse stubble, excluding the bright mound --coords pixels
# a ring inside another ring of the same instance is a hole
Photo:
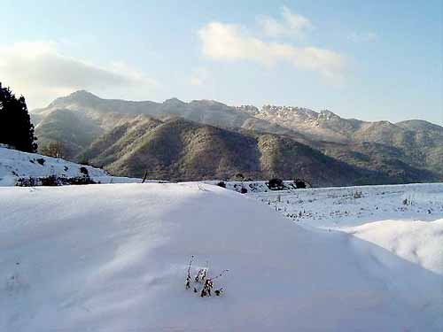
[[[380,220],[443,218],[443,183],[259,191],[248,195],[306,227],[341,229]]]

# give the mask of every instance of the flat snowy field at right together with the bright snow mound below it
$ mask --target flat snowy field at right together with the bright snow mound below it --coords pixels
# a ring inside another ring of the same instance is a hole
[[[346,232],[443,275],[442,183],[297,189],[249,196],[303,228]]]

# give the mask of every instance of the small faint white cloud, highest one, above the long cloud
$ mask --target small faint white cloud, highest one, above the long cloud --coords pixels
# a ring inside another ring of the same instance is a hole
[[[291,10],[285,6],[282,8],[282,18],[282,20],[276,20],[270,16],[260,16],[258,21],[263,33],[271,37],[302,37],[307,30],[314,27],[309,19],[291,12]]]

